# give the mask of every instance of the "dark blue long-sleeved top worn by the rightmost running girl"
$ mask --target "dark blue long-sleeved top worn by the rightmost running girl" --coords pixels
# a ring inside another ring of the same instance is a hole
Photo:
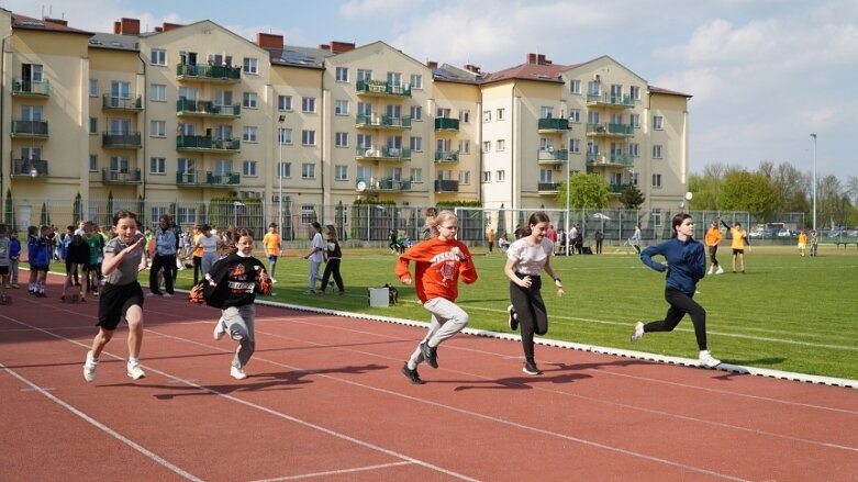
[[[667,266],[654,261],[653,256],[664,256]],[[681,242],[670,238],[664,243],[649,246],[640,253],[644,265],[656,271],[667,271],[665,283],[686,294],[694,294],[698,281],[706,273],[706,254],[703,245],[692,238]]]

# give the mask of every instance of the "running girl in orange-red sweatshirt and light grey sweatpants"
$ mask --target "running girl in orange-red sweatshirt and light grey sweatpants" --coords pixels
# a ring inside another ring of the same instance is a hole
[[[432,314],[428,333],[402,366],[402,373],[414,384],[423,383],[417,365],[425,361],[430,367],[438,368],[438,345],[468,325],[468,314],[455,303],[459,295],[459,276],[467,284],[477,281],[470,251],[456,239],[456,214],[442,211],[427,217],[426,225],[433,236],[400,255],[395,270],[402,284],[411,284],[409,262],[414,261],[414,289],[423,307]]]

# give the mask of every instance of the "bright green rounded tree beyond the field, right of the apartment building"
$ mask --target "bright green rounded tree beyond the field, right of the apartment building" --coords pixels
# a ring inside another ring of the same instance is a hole
[[[748,211],[766,220],[780,209],[778,191],[761,172],[734,171],[724,178],[720,209],[724,211]]]

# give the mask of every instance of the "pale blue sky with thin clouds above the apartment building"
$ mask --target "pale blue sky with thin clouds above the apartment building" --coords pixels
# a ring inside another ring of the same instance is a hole
[[[233,7],[234,5],[234,7]],[[113,32],[211,20],[255,41],[358,46],[382,41],[419,61],[491,72],[528,53],[555,64],[608,55],[651,86],[692,96],[690,169],[789,162],[809,176],[858,177],[855,0],[0,0],[29,16]],[[814,143],[811,134],[816,134]],[[815,155],[814,155],[815,153]]]

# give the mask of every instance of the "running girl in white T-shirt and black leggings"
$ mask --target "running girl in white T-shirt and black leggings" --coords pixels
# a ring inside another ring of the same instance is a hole
[[[503,272],[510,279],[509,313],[510,329],[522,328],[522,347],[524,348],[524,369],[527,374],[542,374],[536,368],[534,358],[534,335],[548,333],[548,314],[541,289],[542,272],[548,273],[557,287],[557,295],[562,296],[564,285],[551,268],[550,256],[554,243],[545,237],[550,220],[544,212],[531,214],[523,236],[506,249],[506,266]]]

